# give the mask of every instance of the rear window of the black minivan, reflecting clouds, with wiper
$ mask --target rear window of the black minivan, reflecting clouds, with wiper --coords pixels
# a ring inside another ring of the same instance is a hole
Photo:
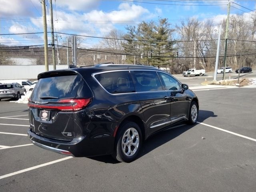
[[[75,98],[82,78],[77,75],[52,76],[38,80],[31,96],[32,101],[57,101]]]

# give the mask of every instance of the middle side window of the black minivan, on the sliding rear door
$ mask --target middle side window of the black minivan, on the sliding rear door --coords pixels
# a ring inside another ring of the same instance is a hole
[[[161,91],[161,81],[155,71],[133,71],[136,92]]]

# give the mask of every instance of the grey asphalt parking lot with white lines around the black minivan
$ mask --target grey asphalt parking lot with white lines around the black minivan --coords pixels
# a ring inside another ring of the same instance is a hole
[[[26,104],[0,102],[0,191],[256,191],[256,88],[195,90],[198,124],[144,142],[131,163],[30,143]]]

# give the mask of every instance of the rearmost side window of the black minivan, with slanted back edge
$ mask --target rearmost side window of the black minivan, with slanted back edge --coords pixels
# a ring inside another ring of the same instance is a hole
[[[129,71],[106,72],[96,74],[94,77],[111,94],[135,92]]]

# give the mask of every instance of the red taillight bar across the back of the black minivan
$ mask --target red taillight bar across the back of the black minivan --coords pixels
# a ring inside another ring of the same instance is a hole
[[[42,108],[42,109],[56,109],[61,111],[78,111],[84,107],[86,107],[88,104],[90,104],[91,98],[88,99],[60,99],[56,103],[52,103],[51,105],[39,105],[39,104],[33,104],[28,103],[29,107],[34,108]]]

